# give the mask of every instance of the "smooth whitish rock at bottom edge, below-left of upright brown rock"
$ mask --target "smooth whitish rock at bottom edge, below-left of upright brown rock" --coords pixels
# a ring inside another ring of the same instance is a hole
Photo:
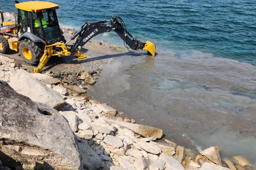
[[[161,153],[159,159],[165,161],[165,170],[184,170],[183,166],[175,158],[166,153]]]

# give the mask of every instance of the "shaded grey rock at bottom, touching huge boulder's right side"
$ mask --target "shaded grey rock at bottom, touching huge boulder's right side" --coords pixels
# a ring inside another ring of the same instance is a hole
[[[87,170],[96,170],[101,167],[102,159],[86,142],[78,142],[82,154],[84,168]]]

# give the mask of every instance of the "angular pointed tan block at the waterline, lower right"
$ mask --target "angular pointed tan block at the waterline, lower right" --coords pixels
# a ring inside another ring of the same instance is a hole
[[[220,159],[220,149],[218,146],[207,148],[200,152],[202,155],[206,156],[208,159],[210,159],[212,162],[214,162],[217,165],[222,166],[222,162]]]

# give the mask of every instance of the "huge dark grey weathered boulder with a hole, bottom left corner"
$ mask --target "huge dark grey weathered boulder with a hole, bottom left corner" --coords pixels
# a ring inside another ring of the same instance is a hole
[[[21,74],[22,75],[22,74]],[[23,169],[82,169],[73,132],[55,109],[0,81],[0,159]]]

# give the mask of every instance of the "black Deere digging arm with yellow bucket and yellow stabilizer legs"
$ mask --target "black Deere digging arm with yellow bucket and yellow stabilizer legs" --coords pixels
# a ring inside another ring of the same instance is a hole
[[[52,56],[62,57],[75,55],[78,58],[85,58],[86,55],[79,50],[94,36],[110,31],[116,32],[124,40],[124,46],[126,46],[129,51],[141,49],[146,50],[149,54],[155,56],[156,47],[152,42],[139,41],[137,38],[134,38],[133,35],[127,31],[122,18],[114,16],[109,21],[101,20],[84,23],[81,29],[71,36],[70,40],[65,44],[63,42],[56,42],[51,45],[46,45],[40,63],[37,68],[34,69],[33,73],[40,73]],[[69,41],[74,40],[75,38],[76,41],[71,47],[66,46]]]

